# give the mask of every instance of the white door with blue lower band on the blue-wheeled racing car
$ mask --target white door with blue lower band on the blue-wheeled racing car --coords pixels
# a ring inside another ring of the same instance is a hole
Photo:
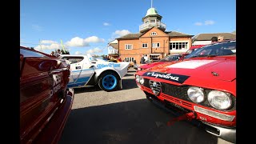
[[[70,82],[68,87],[86,86],[94,74],[94,68],[86,56],[63,56],[70,61]]]

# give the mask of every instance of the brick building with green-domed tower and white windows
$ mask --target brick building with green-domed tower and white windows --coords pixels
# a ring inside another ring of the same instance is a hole
[[[151,7],[142,18],[137,34],[126,34],[117,41],[110,42],[111,49],[116,49],[118,56],[126,61],[140,61],[142,54],[152,60],[163,58],[169,54],[186,52],[192,46],[191,38],[194,35],[183,34],[177,31],[166,31],[166,24],[161,22],[162,16]],[[111,54],[110,54],[111,55]]]

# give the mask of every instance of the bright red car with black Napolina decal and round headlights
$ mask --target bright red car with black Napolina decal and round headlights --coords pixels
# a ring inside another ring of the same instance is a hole
[[[182,61],[138,71],[135,79],[150,101],[187,114],[208,133],[236,142],[236,40],[203,46]]]

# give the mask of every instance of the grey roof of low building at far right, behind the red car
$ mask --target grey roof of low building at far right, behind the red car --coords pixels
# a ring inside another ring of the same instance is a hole
[[[236,34],[234,33],[213,33],[213,34],[198,34],[195,35],[192,40],[194,41],[210,41],[213,37],[222,36],[225,40],[226,39],[235,39]]]

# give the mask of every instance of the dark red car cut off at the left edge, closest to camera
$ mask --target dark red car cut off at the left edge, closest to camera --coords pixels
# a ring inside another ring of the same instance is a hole
[[[68,61],[20,46],[20,143],[58,143],[74,100],[69,76]]]

